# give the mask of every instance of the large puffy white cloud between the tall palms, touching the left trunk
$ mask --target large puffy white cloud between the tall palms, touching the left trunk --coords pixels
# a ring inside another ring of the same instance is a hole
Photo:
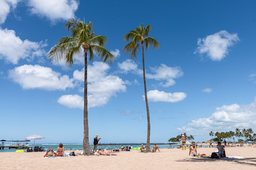
[[[110,66],[102,62],[88,65],[88,107],[103,106],[117,92],[126,91],[125,82],[118,76],[107,74],[109,69]],[[74,80],[84,82],[84,68],[81,71],[75,70],[73,77]],[[78,108],[83,108],[83,105]]]

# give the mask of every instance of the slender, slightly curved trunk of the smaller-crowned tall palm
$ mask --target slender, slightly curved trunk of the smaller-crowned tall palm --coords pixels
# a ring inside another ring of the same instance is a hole
[[[145,73],[144,44],[143,44],[143,42],[141,43],[141,47],[142,47],[142,65],[143,65],[144,91],[145,91],[145,101],[146,101],[147,118],[148,118],[148,134],[147,134],[146,152],[150,152],[150,116],[149,116],[149,109],[148,109],[148,96],[147,96],[147,87],[146,87],[146,73]]]

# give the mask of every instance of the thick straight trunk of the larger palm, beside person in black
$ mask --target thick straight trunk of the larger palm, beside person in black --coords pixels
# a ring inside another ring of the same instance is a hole
[[[87,99],[87,50],[84,50],[84,155],[93,155],[89,144],[89,126],[88,126],[88,99]]]

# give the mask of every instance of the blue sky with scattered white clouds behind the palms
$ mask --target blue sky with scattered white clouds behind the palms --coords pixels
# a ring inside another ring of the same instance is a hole
[[[146,143],[142,54],[124,34],[144,23],[160,49],[145,52],[150,142],[181,133],[256,127],[256,2],[253,0],[0,0],[0,139],[82,143],[84,59],[72,68],[47,54],[69,18],[108,37],[112,65],[88,63],[90,143]]]

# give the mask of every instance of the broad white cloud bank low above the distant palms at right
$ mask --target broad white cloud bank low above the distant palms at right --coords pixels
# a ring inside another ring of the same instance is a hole
[[[256,97],[248,105],[231,104],[217,107],[210,117],[189,121],[187,126],[178,128],[194,135],[208,135],[209,131],[234,131],[256,127]]]

